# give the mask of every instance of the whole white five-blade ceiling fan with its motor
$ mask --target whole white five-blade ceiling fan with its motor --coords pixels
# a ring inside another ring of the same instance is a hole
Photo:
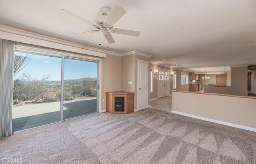
[[[61,10],[63,12],[65,12],[66,14],[73,16],[79,20],[82,20],[88,24],[91,24],[92,26],[94,26],[96,28],[96,30],[82,32],[82,33],[76,34],[76,36],[81,36],[84,34],[90,34],[90,33],[101,31],[101,32],[103,32],[103,35],[105,36],[108,43],[115,42],[115,40],[112,37],[112,35],[110,34],[110,32],[116,33],[116,34],[128,35],[128,36],[140,36],[139,31],[113,27],[113,25],[126,13],[126,11],[124,10],[124,8],[122,6],[118,6],[118,5],[114,6],[114,8],[112,9],[111,12],[109,12],[109,10],[107,8],[100,8],[94,22],[86,20],[85,18],[82,18],[68,10],[65,10],[65,9],[61,9]]]

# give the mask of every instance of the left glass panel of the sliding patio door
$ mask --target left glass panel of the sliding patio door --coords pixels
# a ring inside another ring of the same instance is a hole
[[[15,52],[12,132],[60,121],[61,57]]]

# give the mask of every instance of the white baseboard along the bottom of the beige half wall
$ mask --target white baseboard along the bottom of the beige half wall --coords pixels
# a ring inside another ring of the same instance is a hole
[[[200,120],[204,120],[204,121],[209,121],[209,122],[212,122],[212,123],[223,124],[223,125],[232,126],[232,127],[235,127],[235,128],[241,128],[241,129],[245,129],[245,130],[250,130],[250,131],[256,132],[256,128],[251,128],[251,127],[248,127],[248,126],[242,126],[242,125],[238,125],[238,124],[227,123],[227,122],[224,122],[224,121],[208,119],[208,118],[205,118],[205,117],[190,115],[190,114],[187,114],[187,113],[182,113],[182,112],[177,112],[177,111],[172,111],[172,113],[175,113],[175,114],[178,114],[178,115],[187,116],[187,117],[192,117],[192,118],[200,119]]]

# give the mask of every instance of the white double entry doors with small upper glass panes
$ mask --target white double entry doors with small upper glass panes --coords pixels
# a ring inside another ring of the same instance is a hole
[[[169,70],[158,68],[158,98],[170,95]]]

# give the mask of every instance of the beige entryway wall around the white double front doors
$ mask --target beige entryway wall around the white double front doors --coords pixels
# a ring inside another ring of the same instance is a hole
[[[168,69],[170,70],[170,73],[172,73],[172,71],[176,71],[176,90],[177,91],[189,91],[189,85],[181,85],[181,73],[188,73],[187,71],[181,71],[179,69],[173,69],[170,67],[164,67],[162,65],[156,65],[156,64],[152,64],[150,63],[150,67],[153,68],[153,92],[150,93],[150,99],[155,99],[157,98],[157,92],[158,92],[158,75],[154,75],[156,69],[158,68],[162,68],[162,69]],[[172,90],[173,90],[173,77],[171,77],[170,74],[170,94],[172,94]]]

